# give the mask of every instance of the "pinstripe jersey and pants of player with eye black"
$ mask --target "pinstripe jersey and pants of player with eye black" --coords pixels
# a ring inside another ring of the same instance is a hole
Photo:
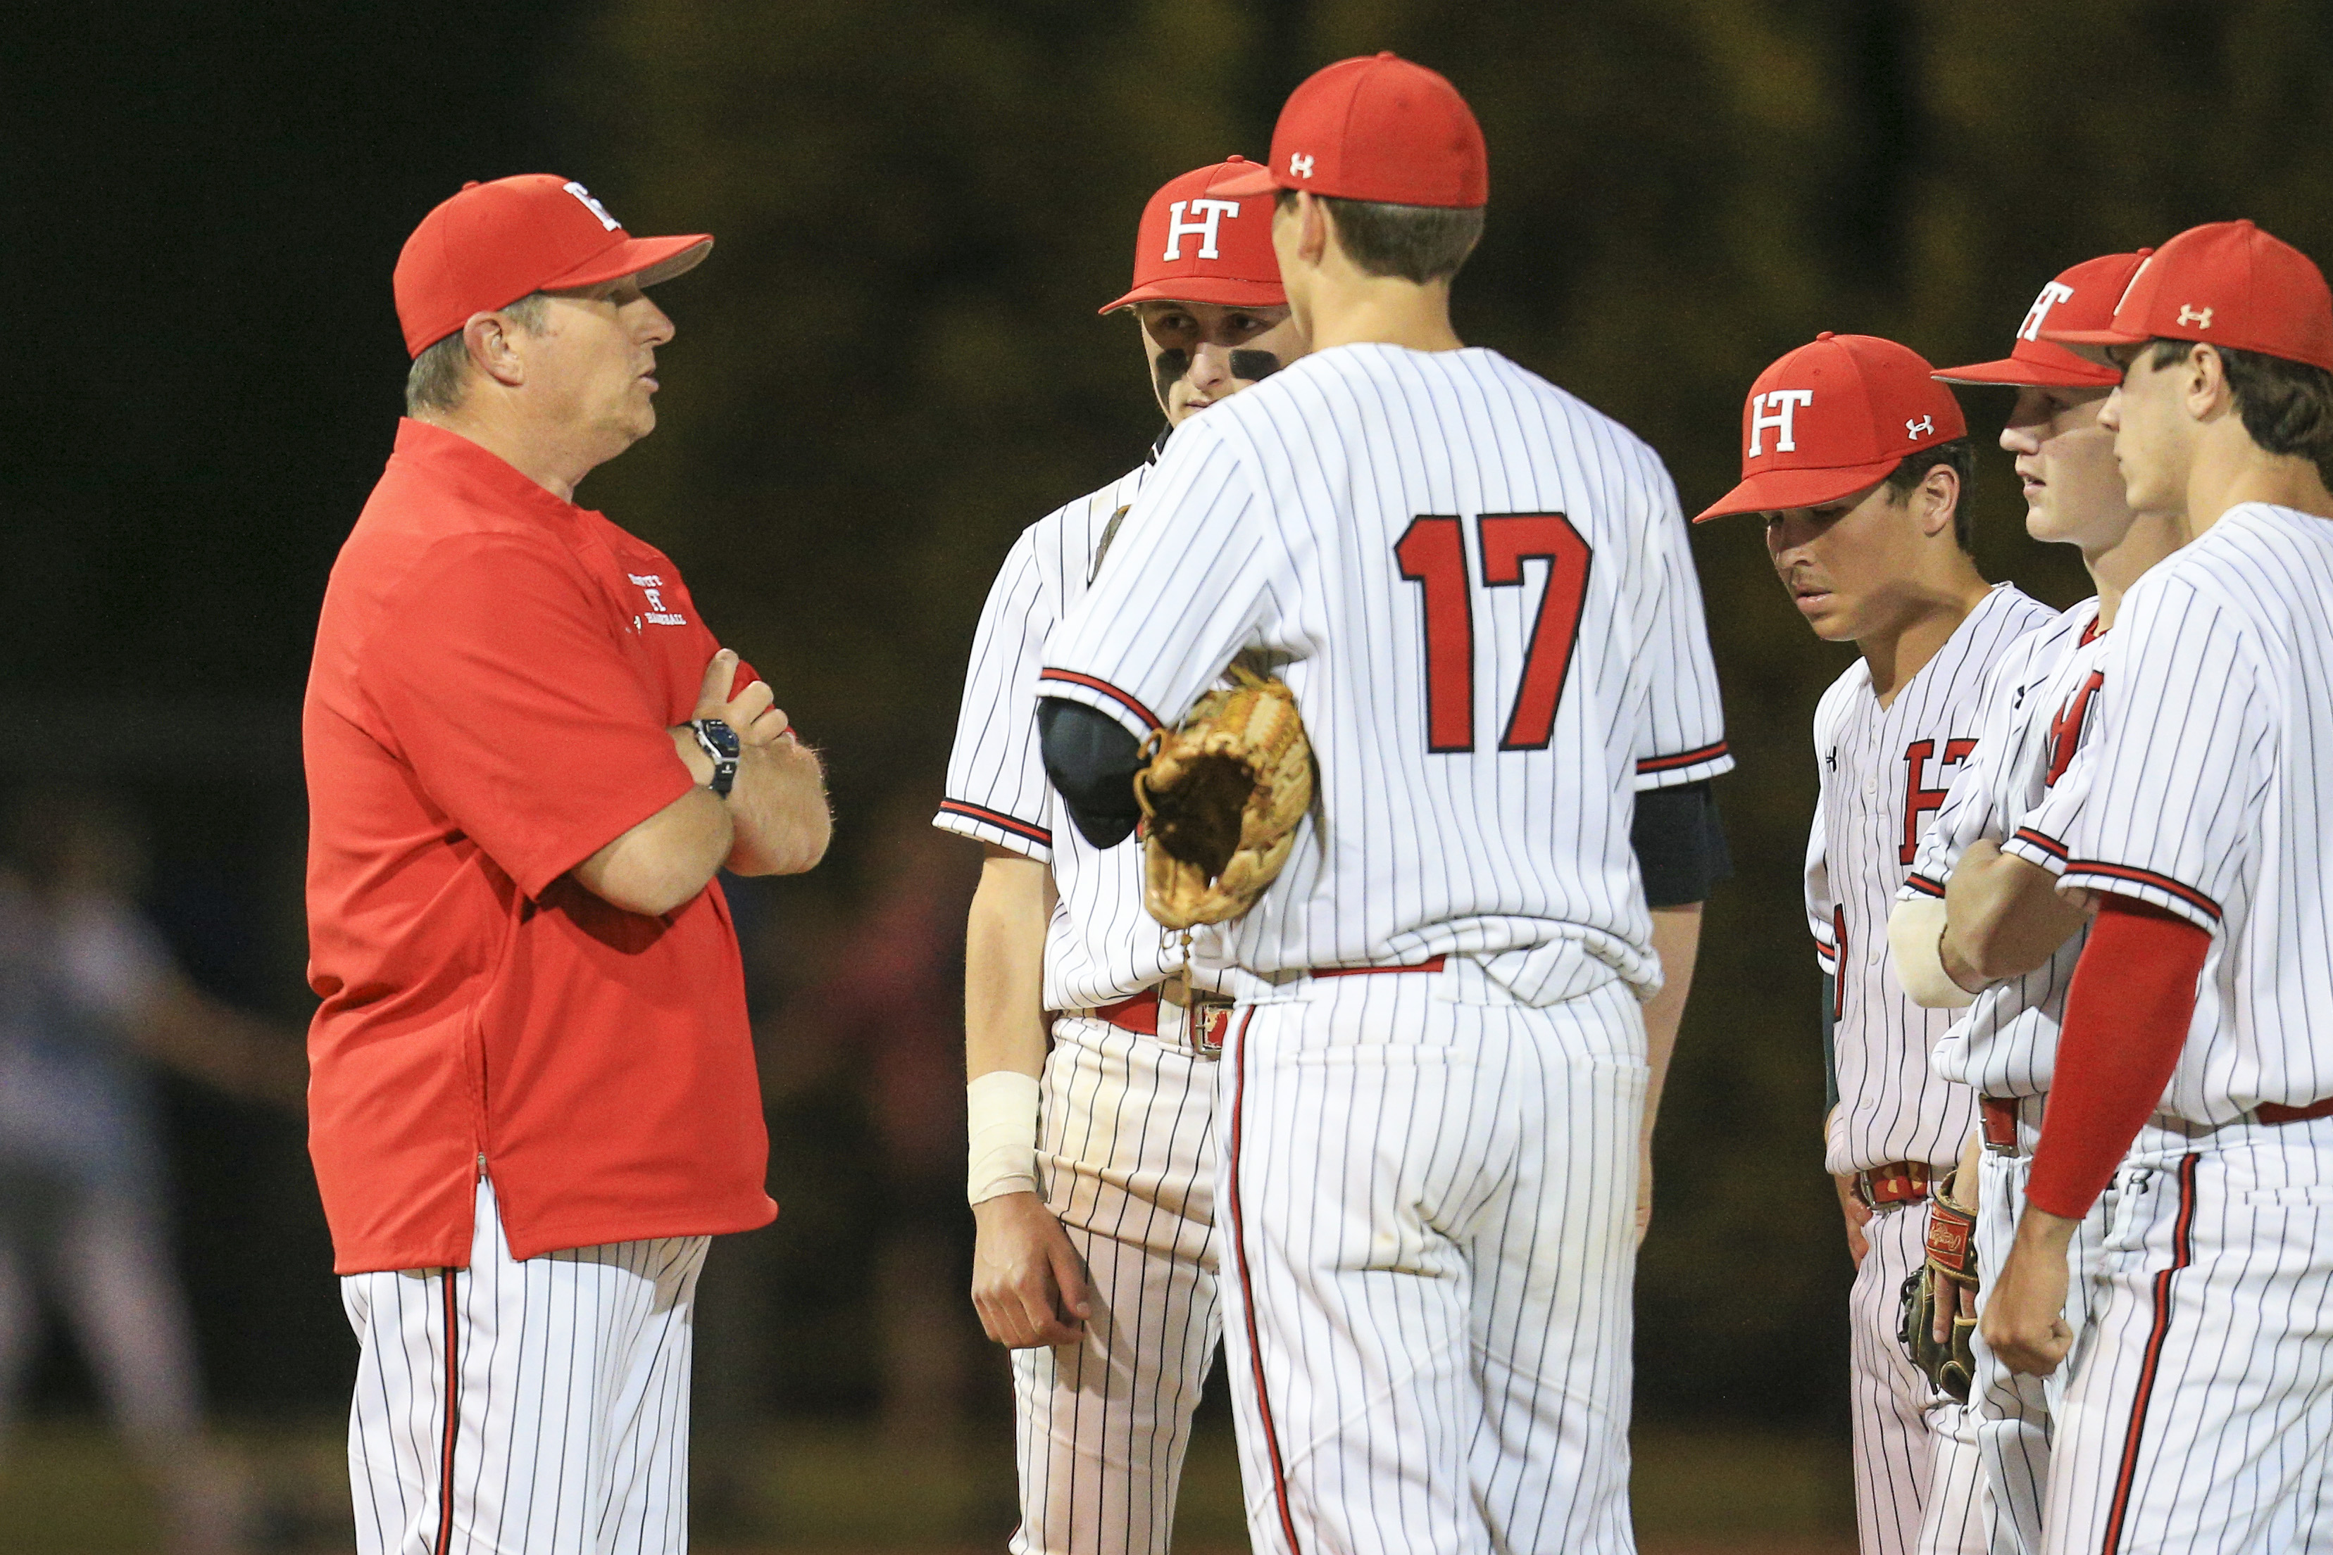
[[[1215,1296],[1213,1058],[1162,1005],[1160,1035],[1090,1012],[1157,986],[1183,951],[1141,905],[1141,849],[1066,825],[1036,751],[1045,634],[1106,555],[1148,464],[1048,513],[1013,546],[973,639],[947,797],[933,825],[1052,865],[1052,1051],[1038,1187],[1094,1282],[1085,1343],[1013,1352],[1022,1525],[1015,1553],[1164,1555],[1190,1415],[1222,1334]],[[1199,979],[1208,986],[1208,979]]]

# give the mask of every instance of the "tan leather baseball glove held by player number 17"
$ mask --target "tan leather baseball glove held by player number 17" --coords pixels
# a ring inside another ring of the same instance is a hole
[[[1183,727],[1153,730],[1134,776],[1143,807],[1143,907],[1166,928],[1255,907],[1311,807],[1311,741],[1288,685],[1239,664]]]

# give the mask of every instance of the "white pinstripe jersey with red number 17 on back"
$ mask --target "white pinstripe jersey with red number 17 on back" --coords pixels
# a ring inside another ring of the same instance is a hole
[[[1339,345],[1208,408],[1041,690],[1148,732],[1234,655],[1285,676],[1320,765],[1227,926],[1241,968],[1467,954],[1523,1002],[1656,986],[1633,790],[1731,758],[1684,518],[1635,436],[1488,350]]]

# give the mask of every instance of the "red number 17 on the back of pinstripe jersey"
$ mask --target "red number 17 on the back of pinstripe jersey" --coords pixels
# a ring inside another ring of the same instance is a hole
[[[1579,606],[1589,594],[1591,550],[1561,513],[1484,513],[1481,581],[1519,587],[1523,562],[1547,562],[1547,592],[1523,650],[1500,751],[1544,751],[1556,732],[1563,676],[1572,667]],[[1465,567],[1465,525],[1425,515],[1393,546],[1402,576],[1425,597],[1425,748],[1474,748],[1474,590]]]

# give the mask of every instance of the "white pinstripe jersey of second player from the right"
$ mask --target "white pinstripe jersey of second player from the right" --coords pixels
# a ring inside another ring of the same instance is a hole
[[[1988,837],[2018,851],[2018,828],[2048,795],[2088,723],[2097,660],[2107,639],[2095,632],[2097,599],[2083,599],[2039,632],[2018,639],[1992,667],[1983,695],[1976,751],[1953,779],[1943,809],[1920,842],[1904,877],[1901,900],[1941,898],[1943,884],[1971,842]],[[2076,933],[2025,977],[1997,981],[1976,995],[1946,1033],[1929,1065],[1983,1096],[2041,1096],[2058,1063],[2058,1021],[2065,988],[2088,933]]]

